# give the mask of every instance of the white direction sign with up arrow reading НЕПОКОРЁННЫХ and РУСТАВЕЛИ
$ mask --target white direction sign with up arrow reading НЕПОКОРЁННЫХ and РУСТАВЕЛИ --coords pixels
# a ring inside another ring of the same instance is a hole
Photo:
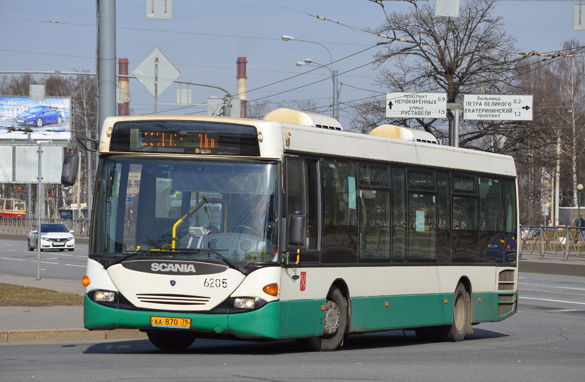
[[[386,93],[388,118],[447,118],[446,93]]]

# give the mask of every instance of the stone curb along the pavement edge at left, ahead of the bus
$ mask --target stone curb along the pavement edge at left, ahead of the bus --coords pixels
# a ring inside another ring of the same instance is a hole
[[[116,329],[113,331],[88,331],[87,329],[60,329],[37,331],[2,331],[0,343],[15,342],[68,342],[104,339],[147,339],[146,333],[138,329]]]

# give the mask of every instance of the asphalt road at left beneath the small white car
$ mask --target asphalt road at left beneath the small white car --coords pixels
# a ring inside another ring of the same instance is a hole
[[[75,242],[75,250],[43,250],[40,253],[40,276],[81,280],[87,266],[88,245]],[[29,252],[26,238],[0,239],[0,274],[36,277],[37,252]]]

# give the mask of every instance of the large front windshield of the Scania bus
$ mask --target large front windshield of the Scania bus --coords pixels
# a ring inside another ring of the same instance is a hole
[[[276,261],[277,163],[102,159],[92,254]]]

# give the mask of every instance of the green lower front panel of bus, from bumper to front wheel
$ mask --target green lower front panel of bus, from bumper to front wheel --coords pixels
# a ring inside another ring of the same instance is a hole
[[[301,338],[321,335],[324,300],[273,301],[260,309],[233,314],[135,311],[105,307],[85,295],[84,326],[97,329],[152,329],[151,316],[190,318],[191,331],[240,338]],[[185,329],[170,329],[185,330]],[[321,331],[321,332],[319,332]]]

